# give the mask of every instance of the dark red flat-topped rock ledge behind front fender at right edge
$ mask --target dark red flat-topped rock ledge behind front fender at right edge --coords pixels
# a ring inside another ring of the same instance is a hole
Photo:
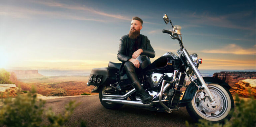
[[[231,87],[235,85],[239,80],[247,78],[256,78],[256,72],[242,72],[242,71],[221,71],[214,73],[213,77],[217,77],[222,81],[228,83]]]

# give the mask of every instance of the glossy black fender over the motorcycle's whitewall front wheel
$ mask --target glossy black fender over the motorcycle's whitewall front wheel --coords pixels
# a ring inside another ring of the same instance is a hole
[[[225,86],[228,89],[231,88],[226,82],[224,82],[224,81],[222,81],[222,80],[220,80],[216,77],[203,77],[203,79],[204,79],[205,83],[207,83],[207,84],[216,83],[216,84]],[[194,80],[194,82],[196,82],[198,86],[202,85],[201,82],[199,81],[199,79]],[[183,98],[182,98],[182,100],[180,101],[179,104],[183,105],[182,103],[190,102],[193,99],[197,90],[198,89],[197,89],[195,83],[191,82],[188,85],[188,87],[186,88],[185,93],[183,95]]]

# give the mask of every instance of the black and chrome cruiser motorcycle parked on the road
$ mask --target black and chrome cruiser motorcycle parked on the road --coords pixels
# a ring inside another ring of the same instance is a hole
[[[172,25],[165,14],[164,22]],[[214,77],[202,77],[198,70],[202,59],[197,54],[189,55],[181,38],[181,27],[172,25],[172,30],[163,30],[179,42],[177,54],[168,52],[152,64],[147,56],[139,56],[141,73],[138,77],[143,88],[154,98],[142,103],[127,75],[119,75],[121,63],[109,62],[108,67],[94,68],[87,85],[94,85],[91,92],[98,92],[101,104],[107,109],[120,108],[124,104],[139,106],[156,111],[171,113],[186,106],[194,120],[223,122],[230,119],[229,112],[234,108],[234,100],[229,92],[230,86]],[[191,83],[186,85],[185,77]],[[182,88],[186,88],[181,98]],[[128,99],[129,98],[129,99]]]

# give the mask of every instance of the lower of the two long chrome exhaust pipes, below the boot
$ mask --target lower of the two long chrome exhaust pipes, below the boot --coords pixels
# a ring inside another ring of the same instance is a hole
[[[153,103],[143,104],[142,102],[138,102],[138,101],[108,99],[108,98],[103,98],[102,101],[118,103],[118,104],[128,104],[128,105],[135,105],[135,106],[144,106],[144,107],[150,107],[150,106],[153,105]]]

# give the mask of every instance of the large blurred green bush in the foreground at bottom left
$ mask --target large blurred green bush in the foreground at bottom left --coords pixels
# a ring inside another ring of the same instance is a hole
[[[1,101],[3,106],[0,107],[0,126],[8,127],[63,126],[77,106],[74,101],[70,101],[65,106],[64,115],[56,115],[52,109],[44,110],[45,101],[37,100],[36,91],[33,87],[27,95],[18,94],[15,99],[6,98]],[[49,120],[49,125],[43,125],[43,117]]]

